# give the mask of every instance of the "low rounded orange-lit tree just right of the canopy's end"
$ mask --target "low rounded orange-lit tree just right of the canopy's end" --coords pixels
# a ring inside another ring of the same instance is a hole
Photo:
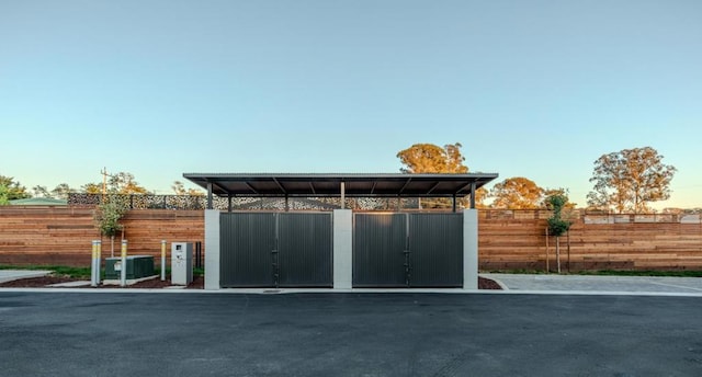
[[[523,176],[508,178],[490,191],[492,207],[511,209],[539,208],[544,190]]]

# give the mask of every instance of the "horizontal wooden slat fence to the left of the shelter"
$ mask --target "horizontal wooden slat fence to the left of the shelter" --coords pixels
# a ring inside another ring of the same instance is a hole
[[[155,255],[160,264],[161,240],[170,261],[170,242],[202,242],[202,210],[131,210],[124,217],[128,253]],[[0,207],[0,264],[90,265],[91,241],[101,239],[90,207]],[[115,256],[121,236],[115,237]],[[102,238],[102,256],[111,256]]]

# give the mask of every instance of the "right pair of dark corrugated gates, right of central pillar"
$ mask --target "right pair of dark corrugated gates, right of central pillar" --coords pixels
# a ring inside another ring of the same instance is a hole
[[[462,287],[462,214],[354,214],[354,287]]]

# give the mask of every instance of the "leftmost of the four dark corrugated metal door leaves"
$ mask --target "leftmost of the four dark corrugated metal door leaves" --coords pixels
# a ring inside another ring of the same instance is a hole
[[[222,287],[274,286],[275,220],[273,213],[220,215]]]

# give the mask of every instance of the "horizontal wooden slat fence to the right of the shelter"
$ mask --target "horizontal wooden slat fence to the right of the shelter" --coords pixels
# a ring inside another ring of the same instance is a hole
[[[482,270],[556,270],[547,210],[480,210]],[[575,214],[561,237],[562,271],[702,270],[699,215]],[[546,239],[548,250],[546,249]]]

